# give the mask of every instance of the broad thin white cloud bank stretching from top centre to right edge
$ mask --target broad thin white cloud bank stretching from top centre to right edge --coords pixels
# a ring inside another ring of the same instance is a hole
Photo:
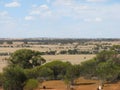
[[[104,2],[107,0],[88,0],[89,2]],[[76,20],[101,22],[120,18],[120,4],[90,4],[78,3],[75,0],[56,0],[53,3],[59,17],[69,16]]]

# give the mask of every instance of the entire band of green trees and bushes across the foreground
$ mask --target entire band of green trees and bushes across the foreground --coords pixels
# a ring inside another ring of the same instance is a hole
[[[0,78],[0,84],[3,82],[4,90],[23,90],[24,85],[25,90],[33,90],[39,79],[64,79],[68,84],[74,84],[74,80],[80,76],[95,76],[103,82],[115,81],[120,77],[120,56],[115,48],[101,51],[95,58],[78,65],[59,60],[43,64],[45,59],[40,52],[17,50],[10,57],[11,65],[0,74],[0,77],[4,77],[3,81]]]

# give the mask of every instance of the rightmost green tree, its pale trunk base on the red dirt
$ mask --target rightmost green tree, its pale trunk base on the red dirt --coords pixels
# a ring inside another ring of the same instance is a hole
[[[98,64],[97,77],[100,79],[100,84],[103,85],[104,81],[112,82],[116,80],[120,73],[120,57],[115,50],[107,50],[98,53],[96,57]]]

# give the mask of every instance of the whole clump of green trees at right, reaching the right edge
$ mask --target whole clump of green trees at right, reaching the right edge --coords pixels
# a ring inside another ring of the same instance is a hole
[[[84,77],[98,77],[102,82],[115,81],[120,76],[120,56],[115,50],[104,50],[94,59],[82,62],[81,69]]]

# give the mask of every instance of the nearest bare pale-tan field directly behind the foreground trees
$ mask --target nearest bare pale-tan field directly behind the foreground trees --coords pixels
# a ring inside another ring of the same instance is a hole
[[[8,57],[9,56],[0,56],[0,72],[2,72],[2,69],[7,66],[5,58]],[[86,60],[92,59],[93,57],[95,57],[95,55],[43,55],[42,57],[46,59],[46,62],[61,60],[63,62],[69,61],[72,64],[79,64]]]

